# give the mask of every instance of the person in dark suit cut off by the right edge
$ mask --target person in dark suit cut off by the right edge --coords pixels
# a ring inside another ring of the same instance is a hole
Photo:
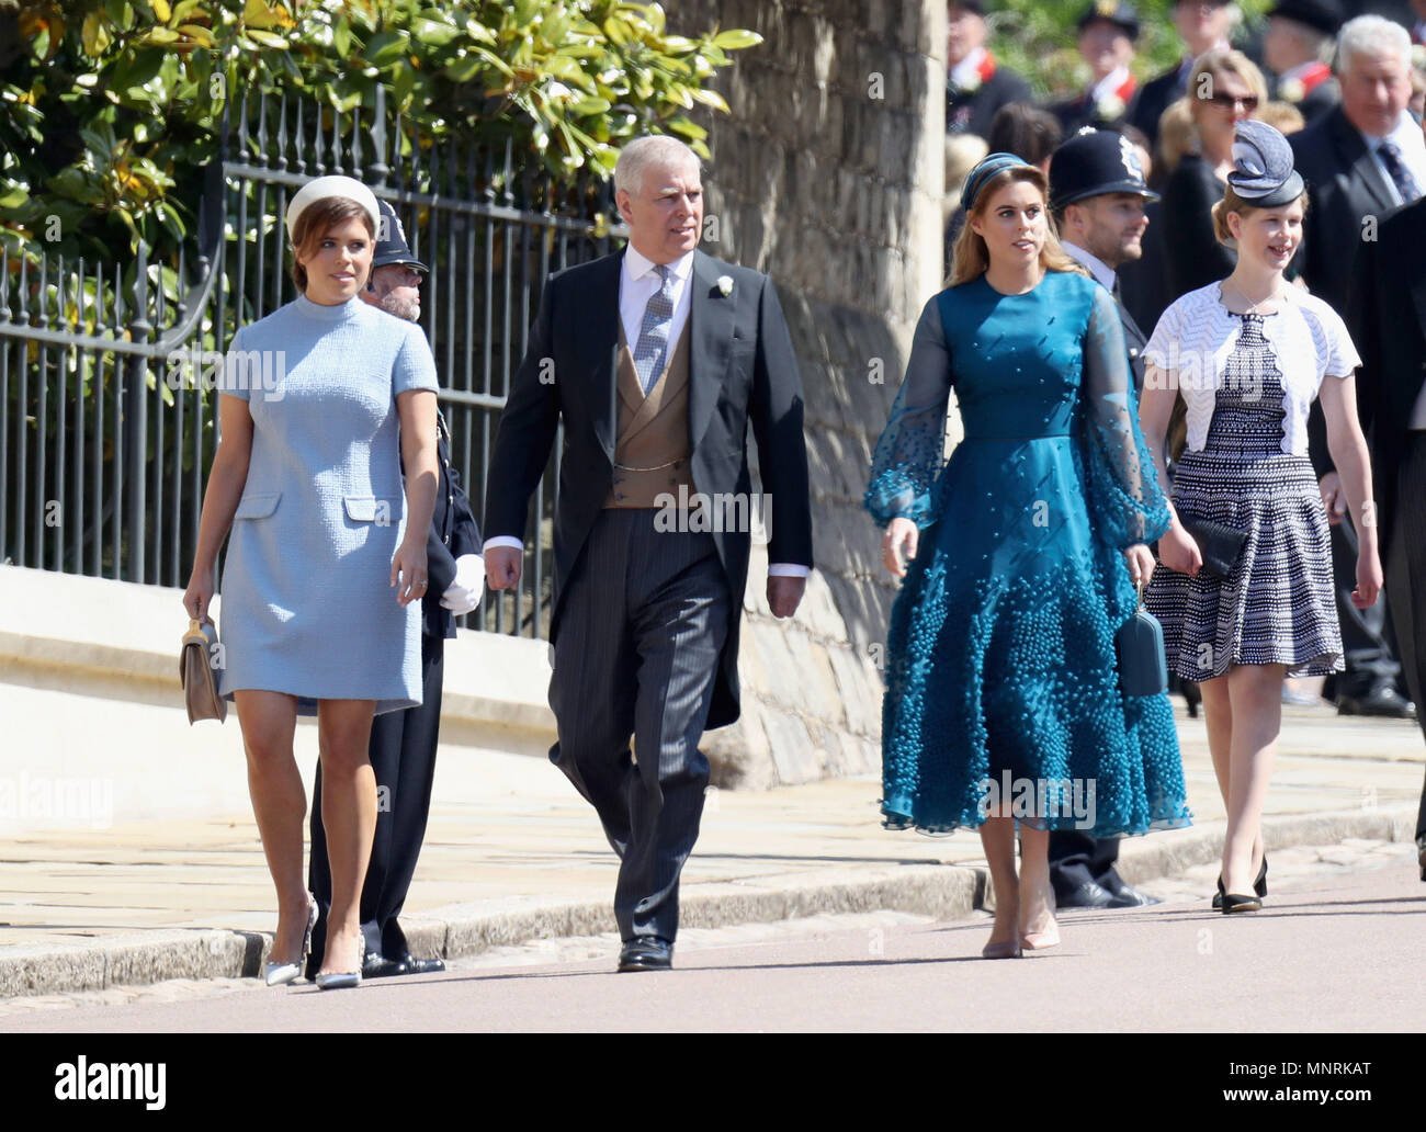
[[[1352,278],[1346,322],[1362,355],[1358,412],[1372,451],[1382,569],[1406,687],[1426,704],[1426,198],[1362,241]],[[1426,881],[1426,786],[1416,851]]]

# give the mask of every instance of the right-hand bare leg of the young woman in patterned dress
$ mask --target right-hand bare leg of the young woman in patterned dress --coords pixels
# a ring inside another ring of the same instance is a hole
[[[1228,777],[1228,835],[1224,838],[1224,888],[1252,892],[1262,810],[1282,730],[1285,664],[1233,664],[1228,670],[1233,741]]]

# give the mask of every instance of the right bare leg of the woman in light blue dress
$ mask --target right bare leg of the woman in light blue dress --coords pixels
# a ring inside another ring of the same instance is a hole
[[[376,776],[368,744],[375,700],[321,700],[322,828],[332,868],[332,908],[318,974],[361,969],[361,887],[376,831]]]

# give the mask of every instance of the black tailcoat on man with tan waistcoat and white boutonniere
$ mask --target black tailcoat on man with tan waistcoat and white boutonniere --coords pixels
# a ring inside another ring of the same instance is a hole
[[[555,515],[555,607],[580,569],[580,550],[613,480],[619,275],[623,252],[550,275],[511,382],[486,476],[485,535],[525,539],[529,498],[563,419]],[[724,295],[719,278],[727,277]],[[767,560],[811,566],[803,396],[787,324],[771,281],[693,254],[689,308],[689,442],[693,489],[737,493],[752,509],[747,428],[757,439],[761,490],[771,498]],[[553,362],[549,368],[546,359]],[[545,379],[542,381],[542,374]],[[743,525],[747,526],[746,523]],[[727,576],[729,629],[707,727],[739,716],[737,639],[752,535],[709,532]]]

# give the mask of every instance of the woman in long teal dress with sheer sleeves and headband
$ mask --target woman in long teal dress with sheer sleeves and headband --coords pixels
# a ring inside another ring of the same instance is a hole
[[[980,828],[995,890],[983,954],[1010,958],[1060,941],[1050,830],[1191,815],[1168,696],[1119,686],[1115,632],[1168,510],[1118,312],[1061,251],[1038,170],[991,154],[964,200],[951,285],[921,314],[866,498],[904,577],[881,811],[890,828]],[[951,386],[965,439],[947,462]]]

